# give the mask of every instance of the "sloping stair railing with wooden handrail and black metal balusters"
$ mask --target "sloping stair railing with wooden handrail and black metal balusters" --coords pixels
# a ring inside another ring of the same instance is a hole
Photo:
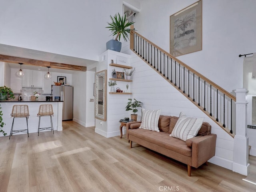
[[[130,49],[234,138],[234,95],[133,30]]]

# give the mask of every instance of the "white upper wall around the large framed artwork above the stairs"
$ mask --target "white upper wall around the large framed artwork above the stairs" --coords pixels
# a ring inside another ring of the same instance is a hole
[[[197,0],[144,0],[136,14],[136,30],[169,51],[170,16]],[[203,0],[202,51],[179,56],[222,88],[242,88],[243,58],[256,52],[255,0]]]

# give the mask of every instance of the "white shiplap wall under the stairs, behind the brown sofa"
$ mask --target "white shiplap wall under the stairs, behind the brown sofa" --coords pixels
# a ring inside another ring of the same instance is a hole
[[[211,124],[212,133],[217,134],[216,154],[209,162],[232,169],[234,139],[135,53],[131,54],[131,66],[136,68],[132,76],[132,98],[143,102],[143,108],[161,109],[163,115],[179,116],[184,112],[187,116],[204,117]]]

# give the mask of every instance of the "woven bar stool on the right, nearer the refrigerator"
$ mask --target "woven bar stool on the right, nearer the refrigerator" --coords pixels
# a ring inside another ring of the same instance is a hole
[[[46,130],[46,129],[50,129],[51,131],[53,131],[53,134],[54,134],[53,125],[52,125],[52,116],[53,116],[52,105],[49,105],[49,104],[48,105],[40,105],[39,106],[39,112],[38,112],[37,116],[39,117],[38,136],[39,136],[40,131]],[[43,117],[43,116],[50,116],[50,119],[51,119],[51,126],[50,127],[40,128],[40,120],[41,120],[41,117]]]

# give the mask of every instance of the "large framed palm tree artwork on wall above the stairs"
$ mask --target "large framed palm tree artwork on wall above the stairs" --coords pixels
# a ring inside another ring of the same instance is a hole
[[[202,50],[202,0],[170,16],[170,54]]]

